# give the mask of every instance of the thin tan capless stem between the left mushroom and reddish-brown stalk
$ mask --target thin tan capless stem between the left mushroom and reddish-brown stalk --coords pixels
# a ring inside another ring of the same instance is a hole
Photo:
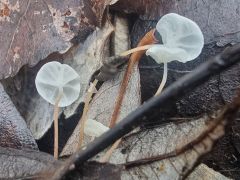
[[[84,108],[83,108],[83,115],[80,119],[80,134],[79,134],[79,143],[78,143],[78,149],[81,149],[82,147],[82,143],[83,143],[83,140],[84,140],[84,126],[85,126],[85,123],[87,121],[87,113],[88,113],[88,109],[89,109],[89,103],[91,101],[91,98],[92,98],[92,95],[94,93],[94,88],[96,87],[96,84],[98,83],[98,80],[95,79],[93,81],[93,83],[90,85],[88,91],[87,91],[87,95],[86,95],[86,98],[85,98],[85,105],[84,105]]]

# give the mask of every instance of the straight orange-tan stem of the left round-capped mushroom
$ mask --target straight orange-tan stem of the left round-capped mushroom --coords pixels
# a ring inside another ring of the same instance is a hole
[[[59,92],[56,102],[54,105],[54,112],[53,112],[53,119],[54,119],[54,158],[58,159],[58,114],[59,114],[59,107],[58,104],[62,98],[62,91]]]

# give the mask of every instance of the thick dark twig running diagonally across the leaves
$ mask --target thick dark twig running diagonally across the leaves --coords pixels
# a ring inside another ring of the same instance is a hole
[[[85,150],[73,154],[62,167],[55,171],[51,179],[61,179],[61,177],[70,171],[70,167],[81,165],[86,160],[92,158],[109,145],[113,144],[116,140],[141,125],[144,119],[151,120],[158,114],[160,108],[165,107],[166,104],[173,103],[187,92],[208,80],[212,75],[222,72],[238,61],[240,61],[240,44],[226,48],[221,54],[209,59],[192,73],[174,82],[166,88],[161,95],[150,99],[137,110],[130,113],[115,127],[90,143]]]

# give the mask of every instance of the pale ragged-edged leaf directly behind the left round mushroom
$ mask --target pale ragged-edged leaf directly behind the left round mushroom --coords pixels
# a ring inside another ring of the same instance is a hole
[[[75,112],[77,106],[83,100],[92,74],[101,66],[101,61],[106,55],[103,48],[112,31],[112,25],[107,22],[101,29],[97,28],[88,38],[85,37],[86,41],[73,48],[66,57],[64,63],[71,65],[81,77],[79,99],[72,106],[65,108],[67,117]],[[56,57],[48,58],[45,62],[49,60],[63,61],[64,58],[61,58],[59,59],[56,55]],[[4,83],[5,87],[11,86],[8,88],[9,93],[12,94],[11,98],[24,116],[35,139],[40,139],[53,122],[53,106],[39,96],[34,85],[36,73],[42,64],[38,63],[33,68],[25,67],[17,76],[7,79]]]

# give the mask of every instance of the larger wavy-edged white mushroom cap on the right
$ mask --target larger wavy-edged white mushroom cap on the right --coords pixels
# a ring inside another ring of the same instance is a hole
[[[174,60],[185,63],[200,55],[204,37],[199,26],[192,20],[170,13],[158,21],[156,29],[163,44],[153,45],[146,55],[150,55],[158,63]]]

